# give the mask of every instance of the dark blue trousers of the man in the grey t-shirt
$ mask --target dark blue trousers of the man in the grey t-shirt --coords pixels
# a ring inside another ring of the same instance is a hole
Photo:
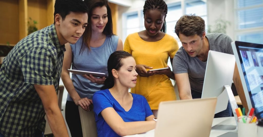
[[[202,96],[202,93],[192,91],[192,98],[201,98],[201,96]],[[226,110],[216,113],[214,116],[214,118],[221,118],[221,117],[232,117],[232,108],[231,108],[229,101],[227,103]]]

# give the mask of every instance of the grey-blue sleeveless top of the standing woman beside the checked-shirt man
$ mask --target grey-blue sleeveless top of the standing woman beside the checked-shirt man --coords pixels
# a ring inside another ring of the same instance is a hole
[[[112,35],[106,37],[99,47],[90,47],[91,51],[85,50],[79,53],[82,45],[82,37],[75,44],[70,44],[72,49],[72,69],[99,72],[107,74],[107,62],[110,54],[117,50],[119,37]],[[92,99],[94,92],[99,91],[103,85],[93,83],[82,75],[72,74],[72,82],[80,98]],[[70,95],[68,101],[73,101]]]

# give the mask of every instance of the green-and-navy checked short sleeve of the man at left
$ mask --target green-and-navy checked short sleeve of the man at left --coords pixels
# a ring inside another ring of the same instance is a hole
[[[18,59],[26,83],[53,85],[54,56],[45,48],[33,48]]]

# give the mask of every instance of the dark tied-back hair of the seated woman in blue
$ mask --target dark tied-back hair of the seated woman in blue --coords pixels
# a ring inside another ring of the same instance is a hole
[[[112,69],[119,70],[120,67],[122,67],[123,62],[122,59],[132,57],[130,53],[126,51],[115,51],[112,54],[110,54],[110,57],[108,59],[108,78],[104,82],[104,86],[101,88],[101,90],[104,89],[110,89],[114,86],[114,78],[112,75]]]

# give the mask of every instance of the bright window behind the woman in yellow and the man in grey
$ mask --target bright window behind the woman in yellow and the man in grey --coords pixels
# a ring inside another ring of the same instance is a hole
[[[181,47],[181,42],[178,36],[174,32],[174,27],[176,21],[185,14],[196,14],[205,20],[207,26],[207,8],[206,2],[203,0],[182,0],[181,2],[175,2],[167,4],[168,13],[166,15],[166,33],[174,36],[178,41],[179,47]],[[182,9],[182,7],[184,7]],[[122,39],[125,40],[126,37],[134,32],[144,30],[144,18],[143,10],[140,9],[137,12],[124,13],[123,19],[123,36]]]

